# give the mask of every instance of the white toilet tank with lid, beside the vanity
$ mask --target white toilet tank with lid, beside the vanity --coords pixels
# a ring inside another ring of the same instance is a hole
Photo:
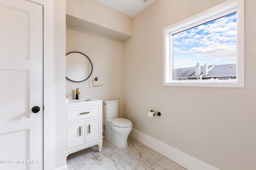
[[[118,117],[118,104],[118,99],[104,100],[104,117],[106,119]]]

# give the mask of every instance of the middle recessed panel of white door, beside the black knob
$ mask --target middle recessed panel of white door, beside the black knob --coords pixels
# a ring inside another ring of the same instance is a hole
[[[10,79],[12,77],[12,79]],[[24,119],[30,117],[29,106],[29,71],[21,70],[0,70],[0,121]],[[6,83],[8,82],[8,83]],[[16,86],[18,82],[18,86]],[[16,98],[16,96],[20,96]],[[16,98],[16,99],[15,99]],[[10,109],[10,107],[13,109]],[[18,109],[14,109],[18,108]]]

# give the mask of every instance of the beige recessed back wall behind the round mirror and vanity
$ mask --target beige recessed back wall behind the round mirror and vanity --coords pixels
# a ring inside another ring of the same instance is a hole
[[[84,29],[68,26],[66,29],[66,53],[84,53],[92,62],[92,75],[84,82],[71,82],[66,79],[66,97],[74,99],[74,90],[79,88],[81,98],[101,100],[119,99],[119,116],[123,117],[123,58],[124,44],[110,37]],[[92,79],[97,77],[93,87]]]

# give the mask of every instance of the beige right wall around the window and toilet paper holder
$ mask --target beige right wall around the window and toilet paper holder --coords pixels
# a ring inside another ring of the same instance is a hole
[[[245,88],[162,85],[162,29],[225,0],[157,0],[124,43],[124,117],[133,128],[221,170],[256,160],[255,0],[245,0]],[[147,117],[152,109],[161,117]]]

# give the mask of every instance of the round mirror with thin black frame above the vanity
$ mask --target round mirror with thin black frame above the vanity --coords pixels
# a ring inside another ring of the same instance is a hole
[[[66,78],[73,82],[82,82],[92,74],[92,62],[80,52],[66,55]]]

